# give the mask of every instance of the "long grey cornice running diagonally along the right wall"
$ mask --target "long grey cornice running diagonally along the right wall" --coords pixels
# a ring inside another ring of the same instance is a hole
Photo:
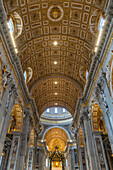
[[[84,89],[84,93],[82,98],[78,99],[76,110],[75,110],[75,116],[73,121],[73,126],[78,124],[78,118],[80,114],[80,109],[83,105],[88,105],[88,102],[91,97],[92,88],[94,88],[95,83],[95,77],[96,74],[99,73],[100,68],[99,67],[103,58],[105,57],[106,50],[108,50],[108,44],[112,35],[112,29],[113,29],[113,1],[110,0],[106,12],[106,23],[103,29],[103,33],[101,36],[101,42],[98,47],[98,51],[96,52],[92,64],[89,71],[88,80]],[[99,70],[98,70],[99,69]]]

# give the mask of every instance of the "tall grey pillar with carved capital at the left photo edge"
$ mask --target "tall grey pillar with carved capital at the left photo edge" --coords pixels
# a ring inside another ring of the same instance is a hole
[[[18,97],[17,88],[13,81],[10,71],[5,71],[3,74],[4,83],[2,92],[2,101],[0,105],[0,157],[4,147],[5,136],[8,129],[11,110]]]

